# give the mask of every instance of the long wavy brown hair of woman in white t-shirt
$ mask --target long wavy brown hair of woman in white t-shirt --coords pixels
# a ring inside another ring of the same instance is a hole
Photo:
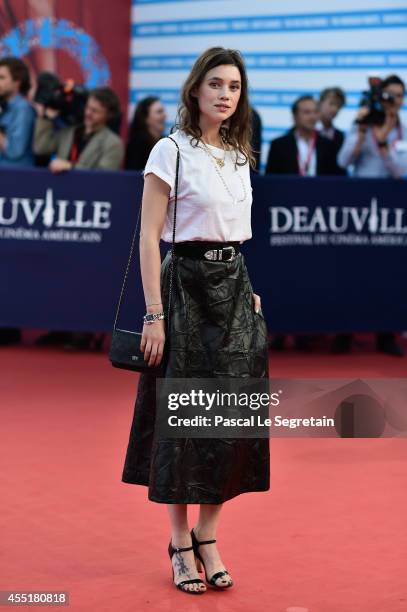
[[[235,163],[238,166],[244,166],[249,162],[250,166],[255,168],[256,159],[253,155],[251,146],[252,111],[249,105],[246,69],[242,55],[235,49],[211,47],[198,57],[182,86],[181,102],[178,105],[177,118],[171,132],[175,129],[183,130],[185,133],[192,136],[191,145],[198,146],[198,140],[202,136],[202,130],[199,126],[201,111],[199,109],[198,99],[191,95],[191,91],[199,88],[205,74],[209,70],[222,64],[236,66],[239,69],[241,92],[236,111],[231,117],[226,119],[220,127],[220,137],[226,145],[230,145],[243,155],[244,161],[241,163],[238,162],[238,154],[236,155]],[[194,140],[196,141],[195,145],[192,144]]]

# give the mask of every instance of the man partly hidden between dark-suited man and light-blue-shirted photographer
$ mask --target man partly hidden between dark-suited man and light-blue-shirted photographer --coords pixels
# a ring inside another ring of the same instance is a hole
[[[340,87],[329,87],[324,89],[319,96],[319,121],[316,127],[322,136],[329,138],[329,140],[333,142],[336,155],[343,144],[345,134],[334,126],[333,120],[337,117],[339,111],[345,104],[345,93]],[[339,166],[338,174],[346,176],[347,171]]]

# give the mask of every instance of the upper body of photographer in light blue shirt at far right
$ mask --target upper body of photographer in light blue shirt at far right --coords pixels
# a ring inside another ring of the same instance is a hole
[[[371,106],[359,109],[338,153],[340,166],[354,166],[353,176],[401,178],[407,175],[407,127],[399,117],[404,94],[403,81],[391,75],[380,85],[382,116],[372,111]]]

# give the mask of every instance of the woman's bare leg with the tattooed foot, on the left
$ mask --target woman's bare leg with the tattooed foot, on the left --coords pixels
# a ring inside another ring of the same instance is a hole
[[[184,548],[192,545],[190,529],[188,526],[188,506],[187,504],[167,504],[168,513],[171,521],[171,541],[174,547]],[[199,578],[196,569],[194,551],[186,550],[176,552],[172,557],[174,568],[174,582],[178,584],[182,580]],[[184,589],[194,591],[205,591],[204,584],[186,584]]]

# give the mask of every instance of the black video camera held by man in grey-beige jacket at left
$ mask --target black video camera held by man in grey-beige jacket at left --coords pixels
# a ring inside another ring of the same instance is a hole
[[[85,87],[72,79],[62,83],[53,72],[41,72],[34,102],[59,111],[67,125],[76,125],[83,121],[88,93]]]

